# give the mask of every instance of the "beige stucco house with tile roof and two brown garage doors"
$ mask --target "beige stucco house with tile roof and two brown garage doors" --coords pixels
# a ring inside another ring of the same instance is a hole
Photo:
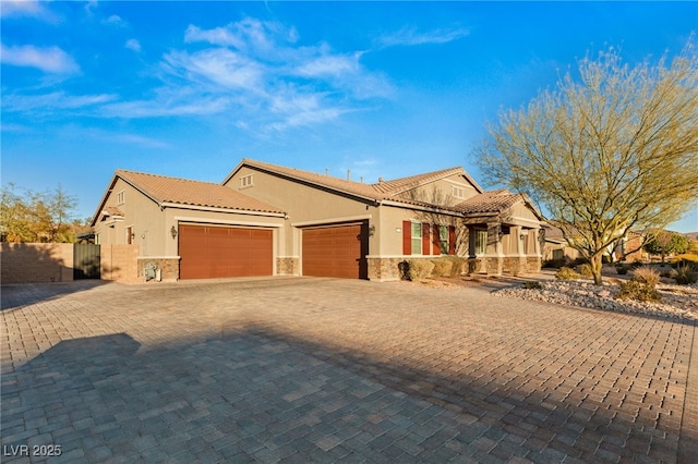
[[[140,246],[164,278],[399,279],[405,259],[457,255],[473,272],[540,269],[540,216],[462,168],[368,184],[243,159],[220,184],[119,170],[97,243]]]

